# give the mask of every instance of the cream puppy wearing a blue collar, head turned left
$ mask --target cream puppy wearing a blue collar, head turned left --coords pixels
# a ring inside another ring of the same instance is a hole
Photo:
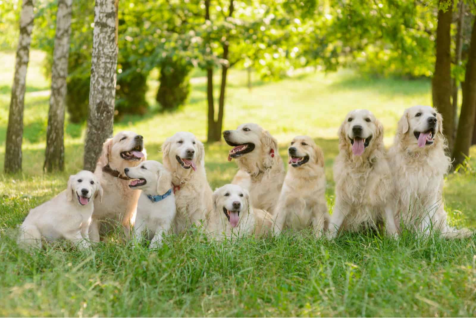
[[[159,247],[164,234],[172,229],[176,213],[172,175],[154,160],[125,168],[124,173],[133,179],[129,188],[142,190],[133,231],[136,240],[140,242],[145,237],[151,247]]]

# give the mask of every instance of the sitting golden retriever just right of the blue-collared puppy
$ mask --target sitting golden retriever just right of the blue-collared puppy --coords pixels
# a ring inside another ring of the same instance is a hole
[[[177,214],[175,233],[182,233],[212,209],[212,190],[205,173],[205,148],[190,132],[178,132],[162,145],[163,163],[172,174]]]

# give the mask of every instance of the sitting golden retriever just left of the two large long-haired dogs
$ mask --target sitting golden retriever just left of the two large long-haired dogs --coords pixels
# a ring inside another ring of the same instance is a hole
[[[324,153],[308,136],[297,136],[288,148],[288,173],[274,215],[275,234],[312,227],[317,237],[327,230]]]

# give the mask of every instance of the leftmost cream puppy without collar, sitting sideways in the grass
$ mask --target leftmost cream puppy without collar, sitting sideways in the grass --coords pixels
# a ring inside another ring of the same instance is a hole
[[[48,241],[66,239],[78,248],[88,248],[96,197],[101,200],[102,188],[92,172],[83,170],[70,176],[65,191],[30,210],[20,226],[20,246],[41,248],[44,238]]]

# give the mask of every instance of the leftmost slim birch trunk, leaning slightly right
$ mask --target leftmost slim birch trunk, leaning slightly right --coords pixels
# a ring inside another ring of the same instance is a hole
[[[5,142],[5,173],[21,170],[21,142],[23,139],[23,109],[28,61],[30,60],[31,31],[33,30],[34,0],[23,0],[20,12],[20,38],[18,40],[15,75],[11,87],[10,112],[8,114],[7,139]]]

